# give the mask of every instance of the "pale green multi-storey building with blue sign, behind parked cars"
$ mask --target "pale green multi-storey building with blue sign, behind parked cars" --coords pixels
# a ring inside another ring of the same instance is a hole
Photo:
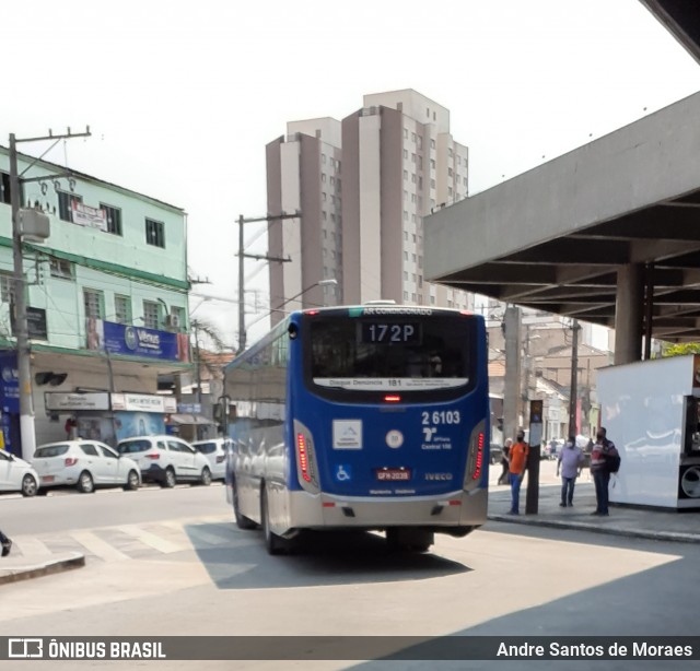
[[[9,173],[9,150],[0,146],[0,353],[5,385],[0,410],[5,444],[20,454],[9,379],[16,346]],[[98,420],[96,413],[103,412],[109,425],[113,409],[88,412],[80,408],[80,395],[155,395],[159,375],[191,366],[187,215],[155,198],[75,170],[67,175],[62,166],[22,154],[19,173],[21,207],[40,209],[50,221],[48,238],[22,245],[40,445],[66,437],[66,415]],[[115,439],[108,429],[100,437]]]

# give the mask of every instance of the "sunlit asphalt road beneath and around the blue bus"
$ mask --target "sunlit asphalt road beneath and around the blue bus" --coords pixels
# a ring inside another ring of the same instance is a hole
[[[438,537],[428,554],[389,554],[382,538],[362,533],[318,535],[303,554],[271,557],[259,531],[241,531],[232,523],[221,486],[0,498],[0,518],[10,534],[32,534],[48,546],[83,546],[88,555],[85,568],[0,588],[0,626],[11,635],[561,637],[698,632],[700,546],[685,543],[489,522],[466,539]],[[357,655],[361,658],[361,651]],[[149,663],[155,662],[140,662]],[[639,661],[565,664],[640,668]],[[686,662],[648,664],[679,669]],[[69,669],[74,662],[38,662],[33,668],[44,666]],[[80,666],[135,668],[133,662]],[[205,670],[435,664],[158,666]],[[441,662],[439,668],[467,664]],[[468,668],[562,668],[562,662],[469,661]]]

